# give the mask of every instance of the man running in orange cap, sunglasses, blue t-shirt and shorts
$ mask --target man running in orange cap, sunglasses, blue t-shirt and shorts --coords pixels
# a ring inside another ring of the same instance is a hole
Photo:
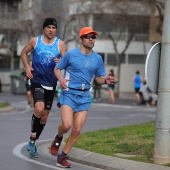
[[[90,88],[93,77],[100,85],[112,84],[114,81],[110,73],[105,78],[102,57],[92,50],[97,34],[90,27],[82,28],[79,34],[80,48],[65,53],[54,69],[63,90],[58,103],[61,107],[62,123],[51,144],[52,155],[57,155],[63,134],[72,127],[71,135],[57,158],[57,166],[60,167],[71,167],[66,160],[66,155],[75,145],[85,123],[91,104]],[[65,69],[64,78],[60,71],[62,69]]]

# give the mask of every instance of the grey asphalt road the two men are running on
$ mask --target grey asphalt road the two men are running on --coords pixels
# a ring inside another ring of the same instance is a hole
[[[25,109],[26,96],[0,93],[0,101],[10,102],[16,108],[9,113],[0,113],[0,170],[60,170],[61,168],[55,165],[55,157],[48,159],[40,155],[37,159],[30,159],[26,152],[32,116],[32,111]],[[156,107],[92,104],[82,132],[139,124],[155,120],[155,117]],[[54,101],[46,127],[37,142],[38,147],[52,141],[59,122],[59,109]],[[98,169],[74,162],[71,164],[74,170]]]

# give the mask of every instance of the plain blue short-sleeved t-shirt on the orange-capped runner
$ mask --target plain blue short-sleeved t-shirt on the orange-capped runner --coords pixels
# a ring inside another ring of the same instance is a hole
[[[79,48],[65,53],[57,69],[65,69],[64,78],[69,79],[68,88],[90,89],[93,77],[105,76],[102,57],[96,52],[85,55]]]

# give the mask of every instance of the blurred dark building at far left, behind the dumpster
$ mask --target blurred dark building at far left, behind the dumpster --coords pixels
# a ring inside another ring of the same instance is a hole
[[[2,91],[10,90],[11,71],[19,67],[16,46],[21,28],[18,19],[20,5],[21,0],[0,0],[0,80]]]

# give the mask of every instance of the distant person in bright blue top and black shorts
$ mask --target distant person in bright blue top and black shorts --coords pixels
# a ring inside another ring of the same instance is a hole
[[[137,102],[137,104],[140,104],[141,100],[140,100],[139,90],[140,90],[141,83],[142,83],[143,79],[140,76],[140,72],[139,71],[136,71],[136,74],[132,78],[132,81],[133,81],[133,84],[134,84],[136,102]]]

